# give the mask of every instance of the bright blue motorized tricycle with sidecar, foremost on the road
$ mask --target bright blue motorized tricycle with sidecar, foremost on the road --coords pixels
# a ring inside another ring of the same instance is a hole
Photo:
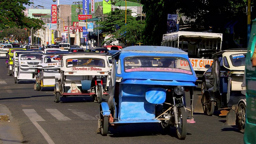
[[[109,126],[157,122],[164,129],[175,127],[178,139],[185,139],[189,109],[184,97],[189,92],[192,106],[196,79],[187,52],[178,48],[120,50],[112,56],[110,98],[100,104],[99,132],[106,136]]]

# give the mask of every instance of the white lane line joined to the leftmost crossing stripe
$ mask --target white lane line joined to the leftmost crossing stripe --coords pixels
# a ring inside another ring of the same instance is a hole
[[[31,120],[31,122],[36,126],[36,128],[41,132],[41,134],[44,136],[45,140],[48,142],[48,144],[54,144],[50,136],[44,131],[44,129],[37,123],[39,121],[45,121],[41,116],[37,114],[37,112],[34,109],[23,109],[23,112],[28,116],[28,118]]]

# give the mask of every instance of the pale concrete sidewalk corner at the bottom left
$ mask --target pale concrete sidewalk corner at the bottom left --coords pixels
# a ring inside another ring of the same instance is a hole
[[[14,122],[10,110],[0,104],[0,144],[20,144],[22,134],[16,122]]]

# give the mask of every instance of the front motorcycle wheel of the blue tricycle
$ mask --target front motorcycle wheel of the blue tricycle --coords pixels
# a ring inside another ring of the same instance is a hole
[[[184,140],[187,135],[187,114],[184,107],[178,108],[178,126],[176,129],[178,139]]]

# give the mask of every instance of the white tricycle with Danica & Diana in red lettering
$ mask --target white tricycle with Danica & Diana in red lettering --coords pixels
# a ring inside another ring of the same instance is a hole
[[[61,60],[60,78],[55,84],[55,102],[60,96],[88,96],[101,103],[110,67],[106,54],[76,52],[64,54]]]

